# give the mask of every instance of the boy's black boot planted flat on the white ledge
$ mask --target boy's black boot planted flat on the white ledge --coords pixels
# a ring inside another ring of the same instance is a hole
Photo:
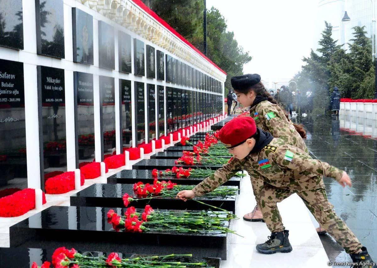
[[[292,246],[288,240],[288,233],[288,230],[271,233],[271,236],[268,236],[268,240],[265,243],[256,246],[257,251],[263,254],[291,252]]]

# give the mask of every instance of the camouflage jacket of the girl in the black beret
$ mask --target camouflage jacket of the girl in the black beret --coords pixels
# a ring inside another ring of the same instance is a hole
[[[262,101],[250,109],[250,115],[260,129],[270,132],[275,138],[283,139],[309,153],[304,140],[296,131],[291,121],[288,121],[279,105]]]

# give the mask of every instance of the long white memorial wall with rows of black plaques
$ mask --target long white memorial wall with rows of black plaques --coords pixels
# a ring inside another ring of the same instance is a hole
[[[0,190],[223,113],[221,69],[132,1],[100,2],[0,1]]]

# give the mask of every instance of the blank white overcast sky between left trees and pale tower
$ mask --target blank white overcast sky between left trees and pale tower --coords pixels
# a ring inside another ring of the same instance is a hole
[[[238,44],[253,57],[244,73],[289,80],[310,54],[318,0],[207,0],[227,20]]]

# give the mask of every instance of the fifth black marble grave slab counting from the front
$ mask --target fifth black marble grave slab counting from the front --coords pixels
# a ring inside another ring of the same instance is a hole
[[[183,167],[183,168],[209,168],[211,170],[217,170],[218,168],[222,167],[222,164],[195,164],[195,165],[186,165],[186,164],[175,164],[175,160],[173,159],[143,159],[136,164],[132,165],[132,169],[154,169],[157,168],[158,170],[166,170],[167,168],[172,168],[173,166],[176,167]]]

